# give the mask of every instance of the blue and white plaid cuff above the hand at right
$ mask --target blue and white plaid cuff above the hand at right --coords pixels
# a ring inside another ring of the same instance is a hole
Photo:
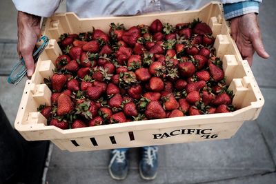
[[[234,0],[235,1],[235,0]],[[262,1],[221,1],[224,6],[224,17],[226,20],[232,19],[234,17],[239,17],[243,14],[248,13],[259,13],[259,3]]]

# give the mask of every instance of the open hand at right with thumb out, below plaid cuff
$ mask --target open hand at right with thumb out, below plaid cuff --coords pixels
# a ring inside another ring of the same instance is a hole
[[[259,29],[257,14],[249,13],[231,19],[231,36],[249,65],[252,65],[253,54],[256,51],[259,57],[267,59],[269,54],[264,50],[261,32]]]

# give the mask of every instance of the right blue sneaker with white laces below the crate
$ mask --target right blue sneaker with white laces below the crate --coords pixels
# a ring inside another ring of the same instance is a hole
[[[144,180],[153,180],[157,175],[158,156],[157,146],[142,147],[142,158],[139,163],[139,173]]]

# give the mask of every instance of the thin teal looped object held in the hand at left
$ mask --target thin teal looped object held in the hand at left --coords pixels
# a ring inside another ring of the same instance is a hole
[[[40,54],[43,52],[43,50],[46,48],[46,46],[49,43],[49,38],[46,36],[42,36],[38,41],[43,41],[43,43],[39,46],[39,48],[32,54],[32,57],[34,57],[34,62],[37,62],[39,59]],[[14,65],[14,68],[12,68],[12,72],[10,72],[10,75],[8,76],[8,83],[12,83],[14,85],[17,85],[23,79],[23,76],[25,76],[27,73],[27,68],[25,65],[25,61],[22,58],[16,65]]]

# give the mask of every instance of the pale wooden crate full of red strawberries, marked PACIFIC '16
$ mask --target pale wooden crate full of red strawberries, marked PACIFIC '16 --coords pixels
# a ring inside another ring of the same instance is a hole
[[[219,3],[187,12],[43,22],[50,43],[26,82],[25,139],[86,151],[227,139],[264,98]]]

